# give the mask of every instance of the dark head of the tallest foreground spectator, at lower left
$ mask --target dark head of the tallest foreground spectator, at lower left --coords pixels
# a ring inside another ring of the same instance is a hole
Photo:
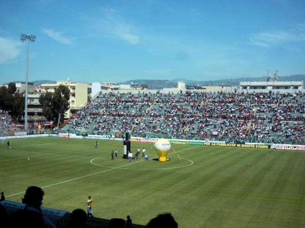
[[[40,187],[31,186],[26,189],[22,203],[40,210],[44,191]]]

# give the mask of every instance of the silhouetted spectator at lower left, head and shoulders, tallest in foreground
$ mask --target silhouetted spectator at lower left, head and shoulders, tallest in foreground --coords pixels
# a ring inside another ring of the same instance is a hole
[[[12,215],[10,227],[56,228],[51,220],[42,214],[40,207],[43,196],[44,191],[40,187],[28,187],[22,199],[25,207]]]

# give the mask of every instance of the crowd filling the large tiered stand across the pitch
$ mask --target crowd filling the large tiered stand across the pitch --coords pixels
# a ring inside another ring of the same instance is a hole
[[[64,131],[302,143],[304,96],[304,92],[107,92],[71,118]]]

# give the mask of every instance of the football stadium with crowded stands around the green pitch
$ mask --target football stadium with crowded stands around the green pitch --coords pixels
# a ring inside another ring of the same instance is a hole
[[[1,204],[13,213],[39,186],[58,227],[88,196],[85,227],[127,215],[145,227],[162,213],[178,227],[302,227],[304,95],[103,91],[36,134],[2,111]]]

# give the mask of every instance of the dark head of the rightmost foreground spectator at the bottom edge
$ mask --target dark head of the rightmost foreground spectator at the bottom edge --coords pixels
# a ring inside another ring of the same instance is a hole
[[[150,219],[146,228],[177,228],[178,223],[171,213],[159,214],[157,217]]]

